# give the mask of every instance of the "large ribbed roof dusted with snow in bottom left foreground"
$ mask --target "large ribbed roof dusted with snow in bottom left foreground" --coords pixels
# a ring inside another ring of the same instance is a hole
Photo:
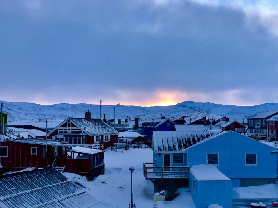
[[[105,207],[53,167],[0,176],[0,207]]]

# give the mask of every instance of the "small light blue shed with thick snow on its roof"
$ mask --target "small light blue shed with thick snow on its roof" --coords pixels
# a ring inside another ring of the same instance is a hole
[[[196,208],[218,204],[232,208],[232,180],[214,165],[195,165],[189,171],[189,188]]]

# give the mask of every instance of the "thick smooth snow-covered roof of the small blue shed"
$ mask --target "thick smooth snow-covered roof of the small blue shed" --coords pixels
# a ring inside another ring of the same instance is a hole
[[[227,176],[221,173],[215,165],[195,165],[189,172],[198,181],[231,181]]]

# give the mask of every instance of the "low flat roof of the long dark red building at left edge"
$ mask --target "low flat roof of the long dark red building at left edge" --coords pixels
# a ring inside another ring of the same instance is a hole
[[[38,139],[38,138],[33,138],[33,139],[11,139],[11,140],[2,140],[0,142],[19,142],[19,143],[27,143],[27,144],[41,144],[41,145],[54,145],[54,146],[64,146],[64,147],[72,147],[73,145],[71,144],[65,144],[64,141],[56,141],[56,140],[51,140],[51,139]]]

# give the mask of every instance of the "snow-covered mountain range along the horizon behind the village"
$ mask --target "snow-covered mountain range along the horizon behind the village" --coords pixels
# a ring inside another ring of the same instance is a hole
[[[8,121],[11,124],[33,124],[45,122],[53,122],[53,125],[60,120],[67,117],[84,117],[85,111],[90,110],[92,117],[100,117],[100,105],[92,104],[68,104],[60,103],[54,105],[39,105],[35,103],[19,103],[19,102],[6,102],[4,103],[4,111],[8,111],[11,115]],[[130,118],[139,117],[140,119],[160,118],[160,114],[167,118],[174,118],[181,115],[190,115],[192,117],[201,117],[204,115],[237,117],[250,116],[257,112],[263,111],[276,111],[278,103],[265,103],[255,106],[236,106],[236,105],[222,105],[215,103],[198,103],[193,101],[184,101],[171,106],[154,106],[154,107],[140,107],[140,106],[116,106],[116,118],[125,119],[127,116]],[[97,116],[98,114],[98,116]],[[114,117],[114,105],[102,105],[101,114],[106,114],[106,118]],[[10,124],[10,123],[8,123]]]

